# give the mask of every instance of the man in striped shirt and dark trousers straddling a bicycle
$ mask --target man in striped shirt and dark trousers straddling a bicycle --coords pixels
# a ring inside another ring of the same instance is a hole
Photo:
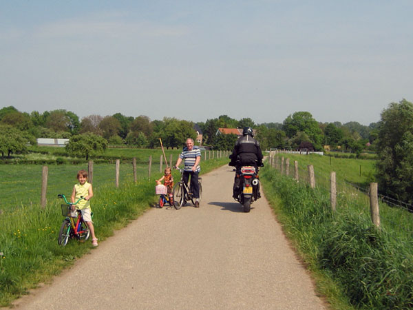
[[[200,173],[201,151],[199,147],[193,145],[193,140],[187,138],[187,147],[184,147],[175,167],[179,167],[184,160],[184,183],[188,183],[191,176],[191,191],[195,198],[195,207],[200,207],[200,187],[198,186],[198,174]]]

